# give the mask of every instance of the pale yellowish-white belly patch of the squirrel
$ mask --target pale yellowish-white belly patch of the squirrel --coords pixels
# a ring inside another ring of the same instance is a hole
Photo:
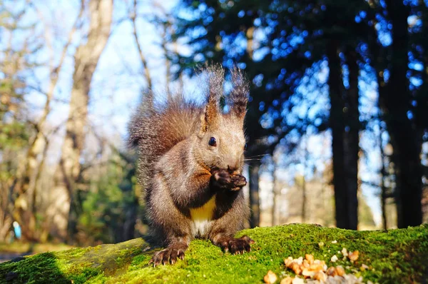
[[[192,218],[193,235],[203,236],[208,232],[213,220],[215,209],[215,195],[203,206],[190,209],[190,218]]]

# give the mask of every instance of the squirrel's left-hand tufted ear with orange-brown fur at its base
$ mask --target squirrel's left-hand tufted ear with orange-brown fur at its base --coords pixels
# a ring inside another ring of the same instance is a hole
[[[208,102],[200,118],[201,132],[215,126],[220,116],[220,98],[223,96],[224,71],[220,67],[211,67],[208,74]]]

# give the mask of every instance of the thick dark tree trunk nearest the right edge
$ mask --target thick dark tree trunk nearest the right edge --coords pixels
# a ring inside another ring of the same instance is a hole
[[[414,123],[407,116],[411,95],[407,66],[409,6],[388,0],[387,11],[392,22],[392,55],[388,92],[382,98],[385,121],[391,137],[392,159],[397,178],[397,219],[399,228],[422,223],[422,141]]]

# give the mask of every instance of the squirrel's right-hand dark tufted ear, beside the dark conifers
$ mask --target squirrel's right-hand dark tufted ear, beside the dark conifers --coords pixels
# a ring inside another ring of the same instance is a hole
[[[244,118],[247,112],[248,92],[250,90],[248,81],[245,79],[242,71],[233,68],[231,71],[233,88],[230,92],[231,113],[239,118]]]

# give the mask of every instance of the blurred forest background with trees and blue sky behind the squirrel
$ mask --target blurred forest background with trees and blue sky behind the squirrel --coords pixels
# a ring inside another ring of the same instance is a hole
[[[250,223],[428,219],[428,1],[0,0],[0,242],[147,230],[127,122],[195,70],[251,83]]]

